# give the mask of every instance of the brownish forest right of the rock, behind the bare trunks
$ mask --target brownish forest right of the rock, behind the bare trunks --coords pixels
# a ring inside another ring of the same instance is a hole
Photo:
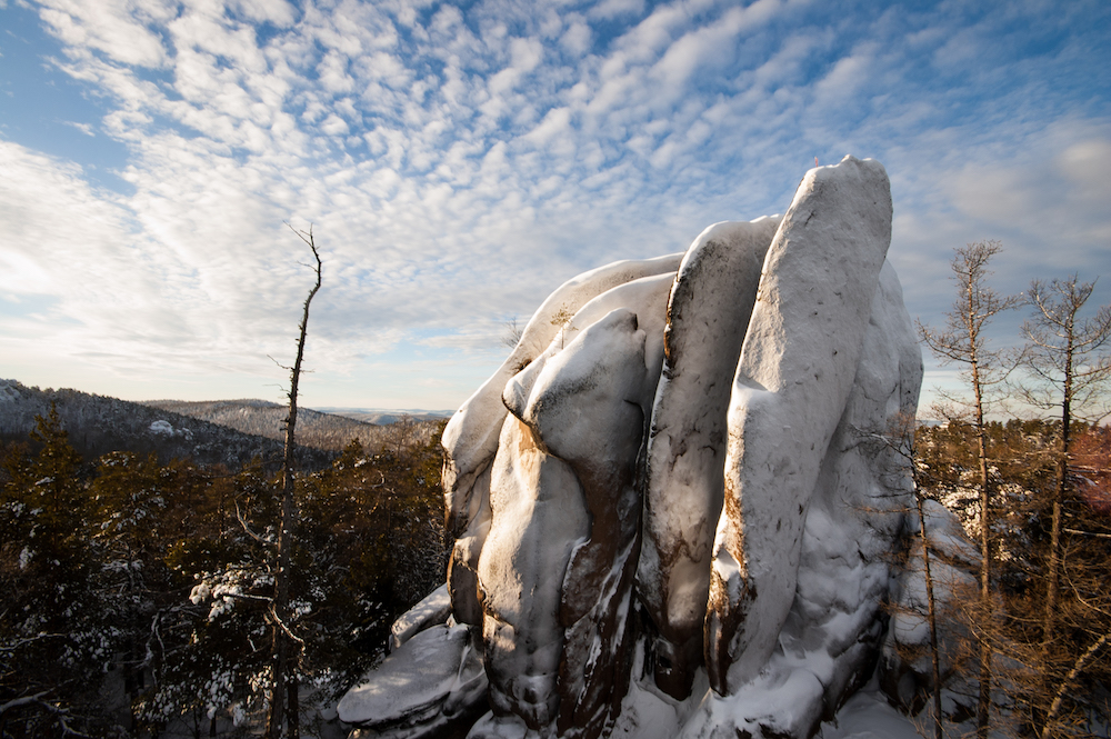
[[[938,613],[939,633],[948,641],[942,651],[950,652],[950,669],[940,676],[939,725],[977,722],[980,659],[987,651],[991,736],[1105,737],[1111,727],[1111,659],[1104,651],[1111,635],[1111,428],[1082,425],[1074,441],[1061,501],[1059,593],[1052,603],[1061,423],[1011,419],[989,421],[984,430],[991,496],[987,602],[980,598],[979,562],[944,561],[931,543],[931,558],[962,576],[955,582],[944,581],[944,575],[934,581],[939,591],[952,592]],[[968,538],[981,541],[974,425],[919,427],[914,465],[920,496],[953,511]],[[921,607],[924,615],[927,603]],[[1047,631],[1048,608],[1052,632]]]

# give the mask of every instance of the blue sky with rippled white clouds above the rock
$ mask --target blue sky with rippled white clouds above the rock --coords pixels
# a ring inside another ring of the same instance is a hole
[[[1111,302],[1111,3],[0,0],[0,377],[281,400],[311,224],[302,405],[452,409],[564,280],[847,153],[913,318],[982,239]]]

